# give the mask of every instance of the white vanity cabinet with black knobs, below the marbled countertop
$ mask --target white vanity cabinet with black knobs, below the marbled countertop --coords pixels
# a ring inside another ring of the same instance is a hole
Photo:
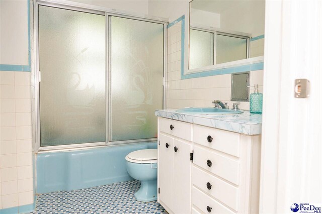
[[[158,202],[170,213],[258,213],[260,141],[158,117]]]

